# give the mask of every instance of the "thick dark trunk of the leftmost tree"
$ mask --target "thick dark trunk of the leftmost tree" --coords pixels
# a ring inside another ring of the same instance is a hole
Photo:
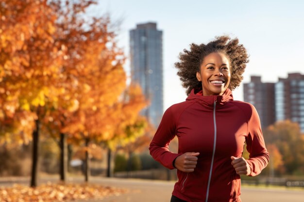
[[[38,165],[38,142],[39,142],[39,120],[35,121],[36,128],[33,131],[33,161],[31,187],[37,186],[37,165]]]

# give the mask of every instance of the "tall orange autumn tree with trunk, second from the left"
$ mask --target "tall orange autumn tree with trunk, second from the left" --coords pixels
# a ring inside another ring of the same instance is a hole
[[[66,172],[66,139],[91,139],[93,128],[105,117],[107,107],[125,87],[124,56],[116,45],[116,26],[106,15],[88,17],[86,9],[95,1],[54,1],[59,15],[54,34],[58,47],[66,50],[60,82],[58,104],[50,103],[47,119],[61,147],[61,180]],[[62,6],[64,5],[64,6]],[[55,109],[55,110],[50,110]],[[92,127],[93,125],[93,127]],[[88,128],[88,129],[87,129]],[[102,128],[100,128],[102,129]],[[94,132],[93,132],[94,133]]]

